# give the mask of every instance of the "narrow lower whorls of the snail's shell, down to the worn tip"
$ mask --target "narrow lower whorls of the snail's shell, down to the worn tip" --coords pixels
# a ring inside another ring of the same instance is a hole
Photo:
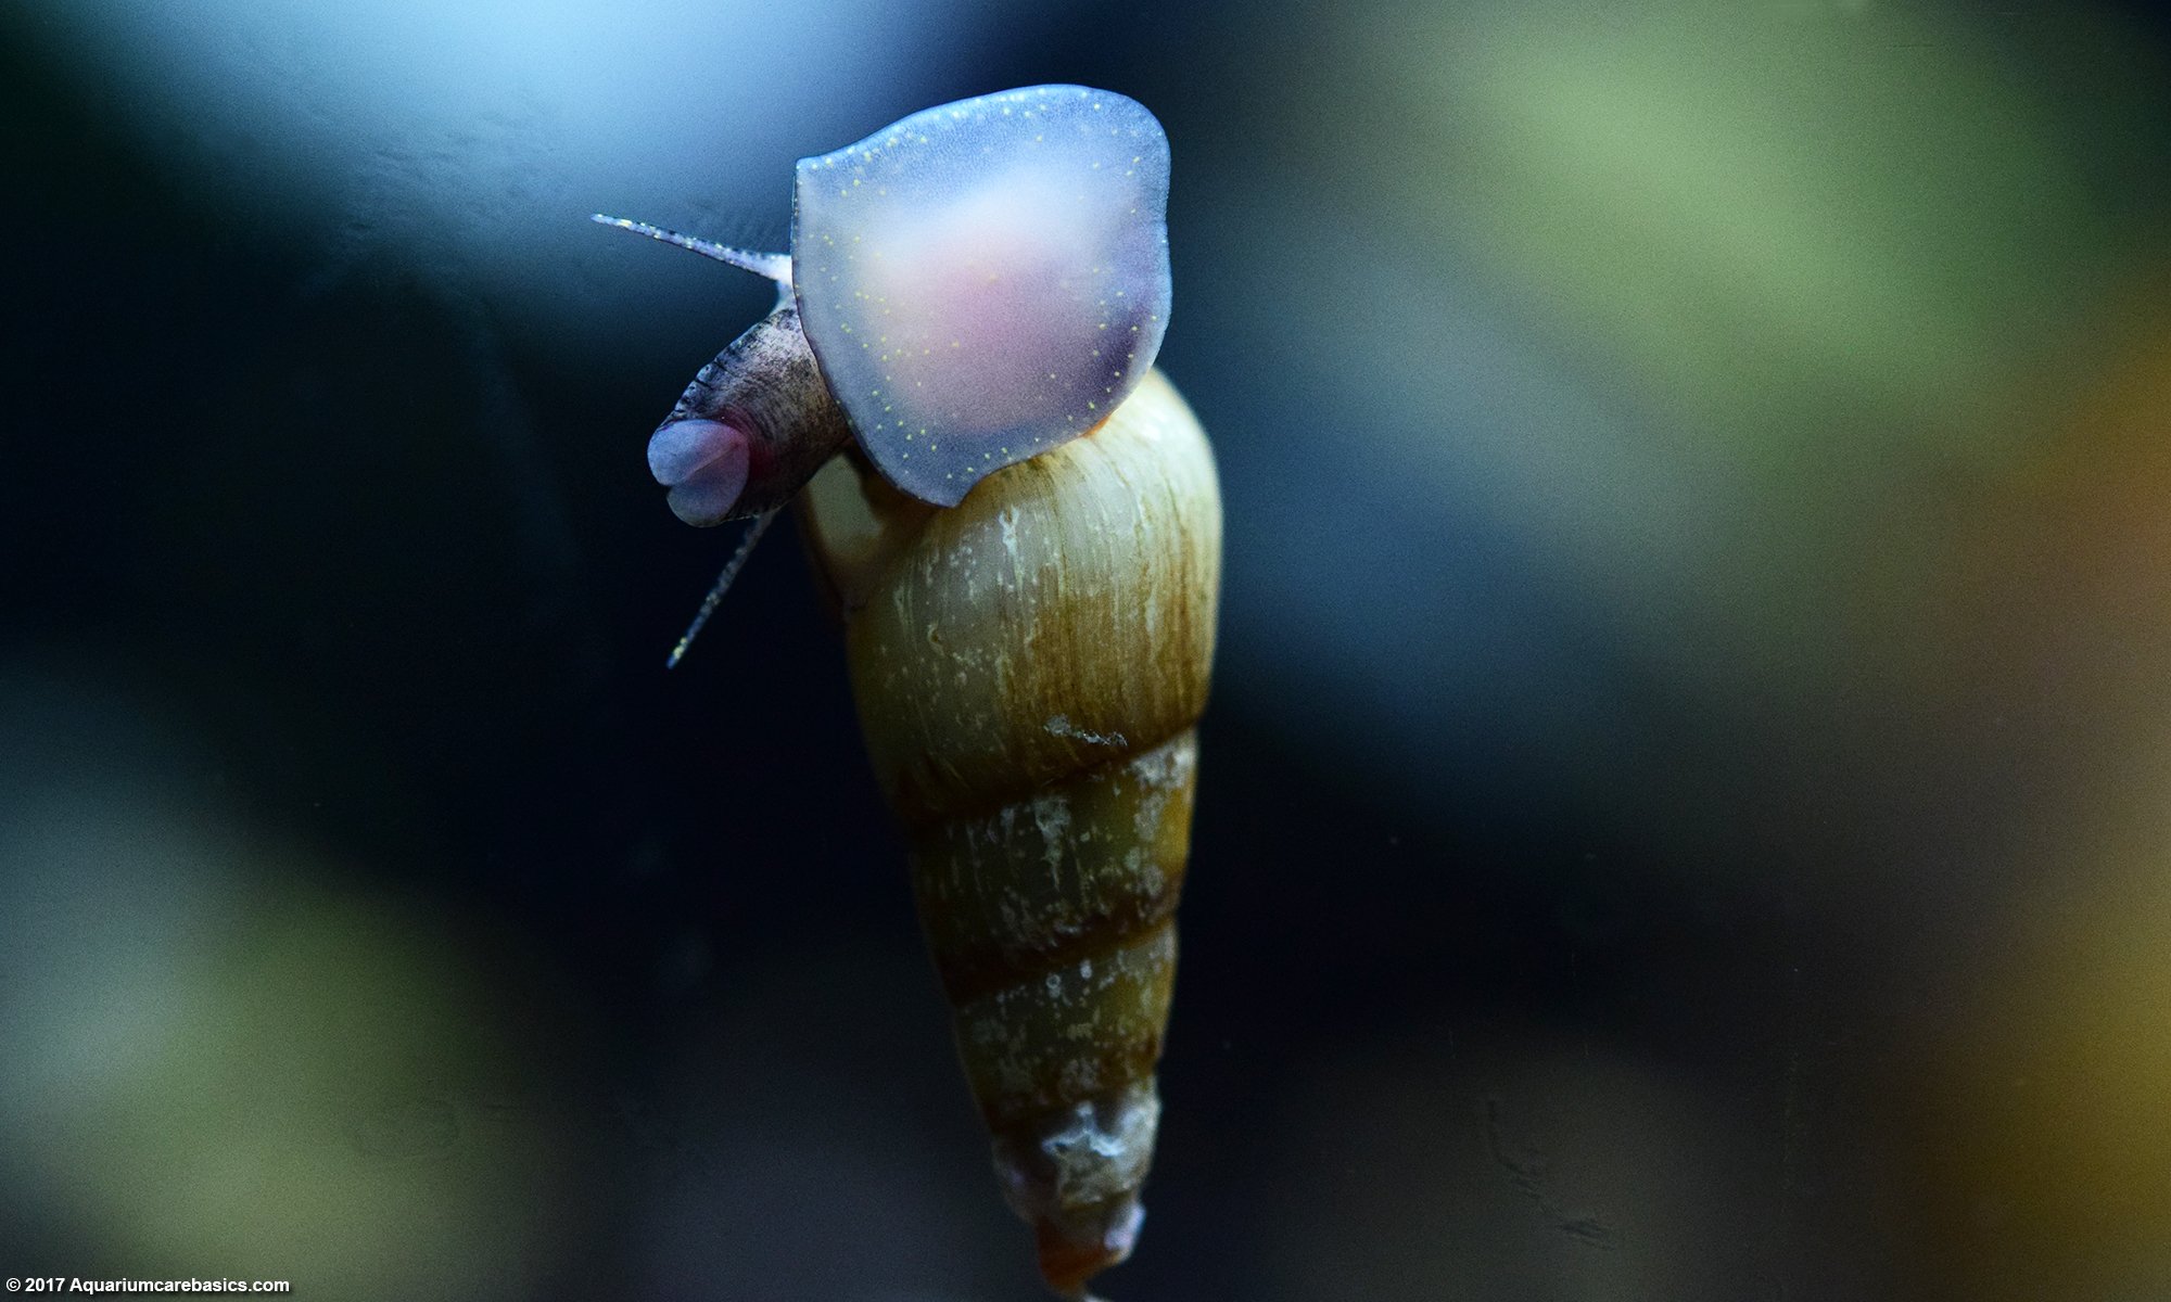
[[[1185,731],[916,838],[914,894],[996,1176],[1059,1291],[1138,1233],[1194,753]]]

